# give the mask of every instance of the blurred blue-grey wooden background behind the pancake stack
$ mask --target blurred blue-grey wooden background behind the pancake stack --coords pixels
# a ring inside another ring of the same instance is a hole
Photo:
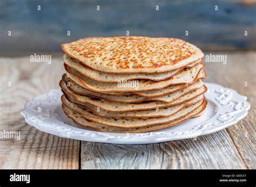
[[[0,52],[60,52],[63,42],[126,31],[185,39],[204,51],[256,49],[255,30],[253,0],[0,1]]]

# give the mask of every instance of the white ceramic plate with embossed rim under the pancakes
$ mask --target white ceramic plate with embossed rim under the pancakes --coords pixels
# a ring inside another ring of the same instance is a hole
[[[247,97],[221,85],[205,83],[208,105],[202,116],[182,124],[145,133],[103,133],[73,123],[62,111],[60,89],[51,90],[26,103],[21,112],[26,123],[38,130],[63,138],[83,141],[143,144],[196,138],[236,124],[247,115]]]

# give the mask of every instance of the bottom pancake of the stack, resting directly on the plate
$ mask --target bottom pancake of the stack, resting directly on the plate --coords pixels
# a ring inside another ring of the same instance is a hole
[[[169,123],[151,125],[151,126],[146,126],[146,127],[136,127],[136,128],[122,128],[122,127],[113,127],[113,126],[99,124],[97,122],[87,120],[79,113],[70,110],[68,107],[65,107],[64,105],[62,105],[62,108],[63,108],[63,111],[66,114],[66,116],[71,118],[75,123],[82,125],[84,127],[92,128],[93,130],[96,130],[96,131],[109,132],[109,133],[141,133],[141,132],[153,131],[153,130],[158,130],[161,128],[178,125],[178,124],[202,113],[202,111],[205,110],[206,105],[207,105],[207,100],[205,100],[203,105],[199,106],[197,109],[188,113],[186,116],[181,117],[176,120],[173,120]]]

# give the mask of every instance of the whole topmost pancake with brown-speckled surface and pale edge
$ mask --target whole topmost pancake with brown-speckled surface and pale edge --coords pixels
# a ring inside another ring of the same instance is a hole
[[[163,73],[202,58],[196,46],[176,38],[84,38],[62,49],[86,66],[106,73]]]

